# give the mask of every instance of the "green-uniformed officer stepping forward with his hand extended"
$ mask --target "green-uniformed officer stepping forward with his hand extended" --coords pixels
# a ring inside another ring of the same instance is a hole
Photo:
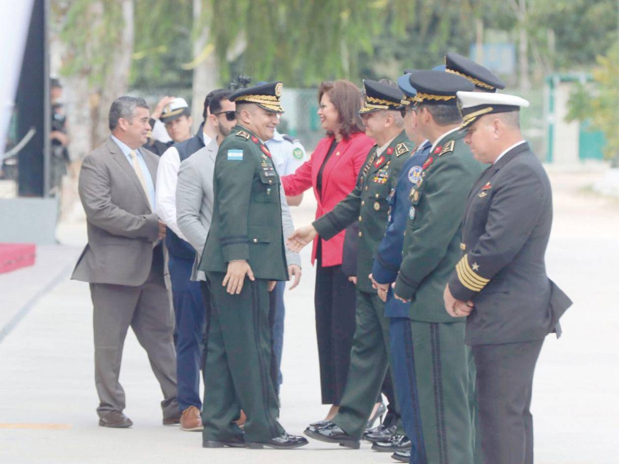
[[[376,247],[386,230],[389,194],[396,186],[400,167],[415,148],[404,131],[402,112],[407,103],[403,102],[404,94],[395,84],[387,82],[365,80],[363,83],[366,97],[360,114],[366,134],[376,140],[376,145],[368,153],[357,186],[331,212],[298,229],[287,241],[293,251],[298,251],[316,234],[328,240],[359,221],[357,330],[346,387],[339,412],[332,421],[311,424],[305,430],[306,435],[315,439],[355,449],[359,447],[389,362],[389,325],[384,317],[384,303],[368,276]],[[373,449],[378,445],[374,444]],[[410,447],[401,424],[386,447],[386,451]]]

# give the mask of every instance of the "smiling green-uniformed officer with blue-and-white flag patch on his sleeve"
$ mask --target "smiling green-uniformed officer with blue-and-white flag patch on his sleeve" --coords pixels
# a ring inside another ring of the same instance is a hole
[[[236,121],[217,152],[214,205],[199,269],[213,307],[204,379],[204,447],[296,448],[307,444],[278,423],[270,376],[269,291],[288,280],[279,175],[264,144],[273,137],[281,82],[230,97]],[[235,424],[241,409],[245,431]]]

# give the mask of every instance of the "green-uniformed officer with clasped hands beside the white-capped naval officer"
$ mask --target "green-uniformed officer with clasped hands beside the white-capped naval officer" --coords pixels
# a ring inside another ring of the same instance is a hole
[[[474,363],[464,345],[464,318],[446,315],[443,290],[460,257],[464,202],[483,170],[459,127],[456,92],[470,92],[474,86],[464,77],[439,71],[416,71],[409,80],[417,90],[413,100],[418,130],[432,146],[410,190],[394,298],[410,302],[410,354],[427,462],[472,464]]]

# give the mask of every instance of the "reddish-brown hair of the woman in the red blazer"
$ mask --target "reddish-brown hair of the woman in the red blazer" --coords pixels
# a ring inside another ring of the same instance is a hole
[[[321,82],[318,88],[318,104],[322,99],[322,95],[327,94],[329,100],[335,106],[339,115],[338,122],[340,123],[340,132],[342,137],[348,139],[350,135],[357,132],[365,132],[359,110],[361,110],[361,91],[357,85],[350,80],[339,79],[335,81],[325,80]],[[327,135],[333,135],[327,131]]]

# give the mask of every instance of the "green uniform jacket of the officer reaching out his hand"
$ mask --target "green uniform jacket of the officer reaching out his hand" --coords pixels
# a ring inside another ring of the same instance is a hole
[[[388,197],[396,188],[400,168],[410,157],[415,144],[402,131],[380,156],[377,156],[377,148],[374,145],[368,153],[355,189],[331,212],[313,222],[318,234],[328,240],[359,221],[357,288],[370,293],[376,293],[368,275],[372,272],[376,249],[387,227]]]

